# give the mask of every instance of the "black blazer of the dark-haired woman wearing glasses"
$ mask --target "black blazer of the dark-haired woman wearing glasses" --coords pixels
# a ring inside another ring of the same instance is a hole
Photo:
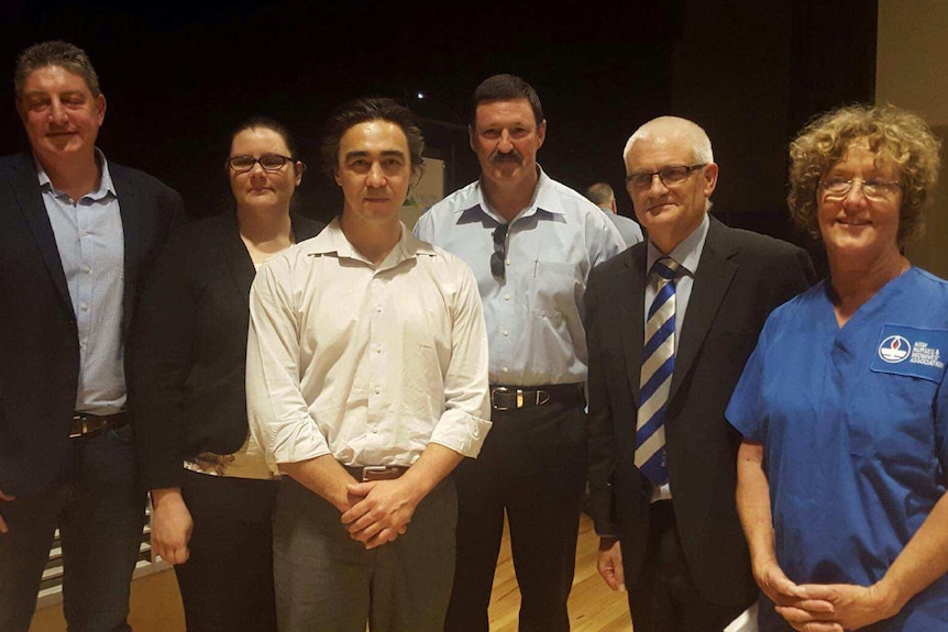
[[[290,214],[297,241],[323,224]],[[178,487],[185,457],[230,454],[247,436],[246,339],[253,260],[233,212],[169,241],[142,296],[132,391],[142,484]]]

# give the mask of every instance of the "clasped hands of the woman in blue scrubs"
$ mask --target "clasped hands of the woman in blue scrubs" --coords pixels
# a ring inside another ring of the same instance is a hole
[[[760,589],[800,632],[859,630],[897,612],[879,585],[794,584],[775,562],[754,568]]]

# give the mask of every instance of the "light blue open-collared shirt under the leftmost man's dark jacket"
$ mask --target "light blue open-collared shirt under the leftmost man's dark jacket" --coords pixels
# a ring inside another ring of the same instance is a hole
[[[76,410],[111,414],[125,406],[122,366],[125,243],[109,164],[99,149],[96,157],[102,167],[99,187],[79,200],[56,190],[38,160],[36,171],[79,331]]]

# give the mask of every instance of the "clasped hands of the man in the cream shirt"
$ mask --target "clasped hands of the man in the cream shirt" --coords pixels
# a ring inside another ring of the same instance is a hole
[[[371,480],[349,486],[349,494],[362,500],[342,514],[353,540],[375,548],[394,541],[408,530],[419,499],[405,480]]]

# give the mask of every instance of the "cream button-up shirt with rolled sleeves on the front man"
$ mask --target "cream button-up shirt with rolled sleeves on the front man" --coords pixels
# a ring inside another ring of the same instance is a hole
[[[375,266],[333,220],[264,264],[250,315],[247,411],[272,467],[326,454],[408,466],[432,442],[481,451],[490,422],[477,285],[404,225]]]

